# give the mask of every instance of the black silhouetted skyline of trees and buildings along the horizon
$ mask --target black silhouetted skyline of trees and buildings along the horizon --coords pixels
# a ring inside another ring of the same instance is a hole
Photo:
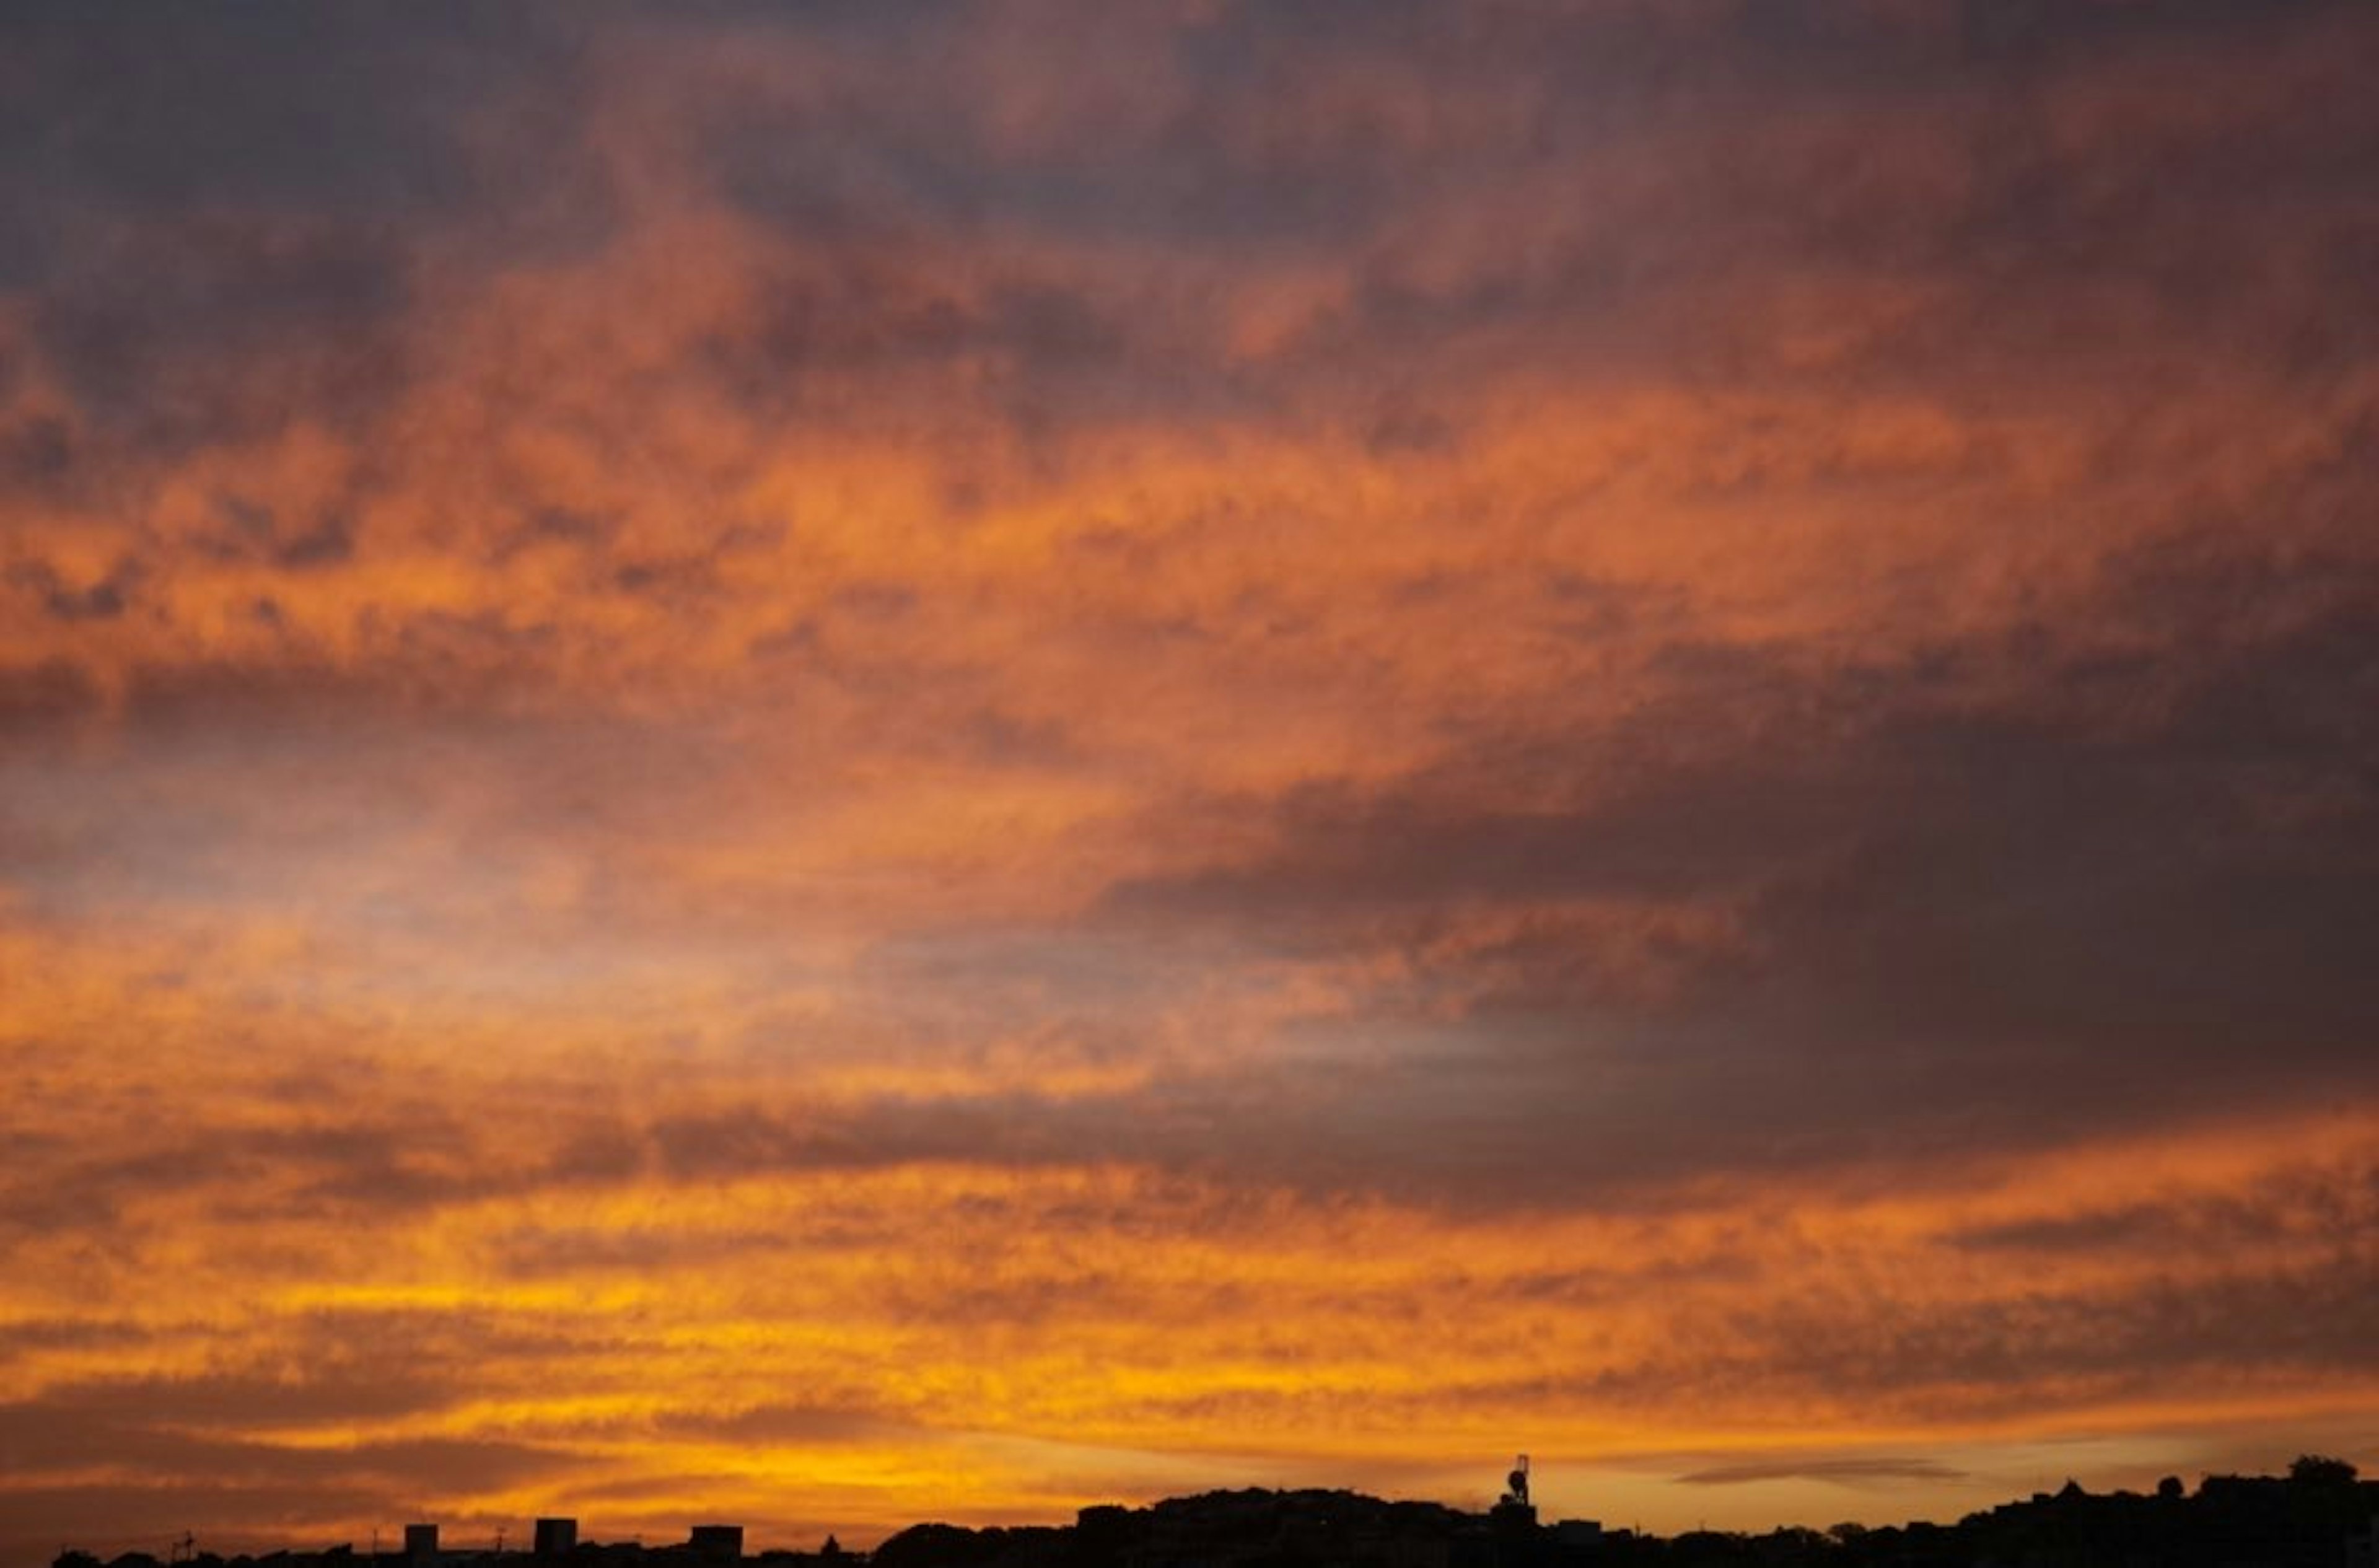
[[[761,1551],[759,1568],[2379,1568],[2379,1482],[2317,1454],[2286,1475],[2179,1478],[2153,1492],[2084,1492],[2065,1482],[2025,1501],[1967,1513],[1953,1525],[1856,1523],[1768,1532],[1691,1530],[1675,1537],[1537,1525],[1501,1506],[1468,1513],[1361,1492],[1206,1492],[1147,1509],[1082,1509],[1073,1525],[911,1525],[875,1551]],[[276,1551],[183,1556],[193,1568],[357,1568],[366,1554]],[[721,1568],[692,1542],[678,1547],[580,1544],[552,1558],[528,1551],[440,1551],[433,1561],[378,1554],[374,1568]],[[109,1563],[62,1551],[52,1568],[167,1568],[131,1551]]]

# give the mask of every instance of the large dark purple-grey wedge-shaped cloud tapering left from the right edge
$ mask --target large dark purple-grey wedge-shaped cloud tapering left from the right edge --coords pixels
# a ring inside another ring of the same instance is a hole
[[[1251,864],[1121,883],[1101,918],[1404,954],[1368,1023],[1423,1056],[1442,1037],[1444,1071],[1289,1095],[1332,1102],[1335,1130],[1377,1121],[1382,1168],[1451,1159],[1520,1083],[1565,1085],[1537,1102],[1563,1111],[1499,1114],[1482,1164],[1518,1137],[1553,1180],[1622,1152],[1863,1159],[2327,1102],[2379,1026],[2379,597],[2346,562],[2108,573],[2122,659],[2091,628],[1818,671],[1677,650],[1642,733],[1558,749],[1539,728],[1387,788],[1308,785],[1266,807]],[[1577,804],[1477,804],[1520,792]],[[1642,907],[1651,959],[1625,923],[1558,914],[1580,904]],[[1696,904],[1730,918],[1663,935]],[[1525,918],[1432,959],[1451,911],[1494,909]],[[1630,990],[1596,964],[1613,947],[1675,976]],[[1458,1028],[1430,1021],[1446,1006]]]

